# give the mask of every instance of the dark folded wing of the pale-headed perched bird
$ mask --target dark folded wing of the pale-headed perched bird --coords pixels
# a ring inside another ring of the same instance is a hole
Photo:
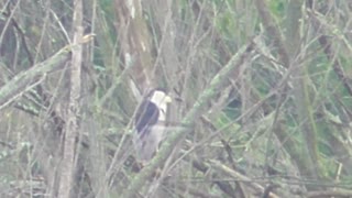
[[[145,100],[142,102],[135,114],[135,128],[139,133],[147,127],[157,122],[158,109],[155,103]]]

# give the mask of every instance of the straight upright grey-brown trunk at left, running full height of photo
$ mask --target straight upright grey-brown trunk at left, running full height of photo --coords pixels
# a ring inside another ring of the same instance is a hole
[[[75,0],[74,10],[74,44],[78,44],[82,40],[82,1]],[[76,136],[79,133],[79,114],[80,114],[80,73],[81,73],[81,59],[82,59],[82,47],[77,45],[73,48],[73,59],[70,67],[70,91],[69,91],[69,103],[67,108],[67,118],[65,125],[65,139],[64,139],[64,156],[62,160],[62,175],[59,183],[58,197],[69,198],[73,189],[73,175],[75,173],[75,143]]]

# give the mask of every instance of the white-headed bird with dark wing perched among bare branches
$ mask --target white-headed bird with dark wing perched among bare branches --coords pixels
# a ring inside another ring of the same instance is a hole
[[[154,89],[143,99],[134,120],[136,157],[148,162],[157,152],[166,130],[167,105],[172,98],[164,89]]]

